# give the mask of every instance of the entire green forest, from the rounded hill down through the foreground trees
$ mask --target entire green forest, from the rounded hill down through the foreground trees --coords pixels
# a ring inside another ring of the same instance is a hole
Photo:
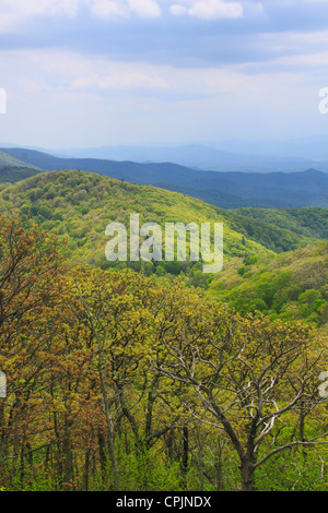
[[[75,170],[5,187],[0,210],[1,489],[326,489],[328,243],[311,208],[281,224]],[[222,273],[109,265],[106,224],[131,212],[223,222]]]

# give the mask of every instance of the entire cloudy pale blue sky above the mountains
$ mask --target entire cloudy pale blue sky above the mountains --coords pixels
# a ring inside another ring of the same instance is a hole
[[[0,0],[0,142],[328,135],[328,0]]]

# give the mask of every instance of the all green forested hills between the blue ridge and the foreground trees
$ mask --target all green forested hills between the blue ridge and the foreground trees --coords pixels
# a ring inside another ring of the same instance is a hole
[[[296,312],[301,318],[313,314],[318,322],[325,317],[327,247],[321,244],[316,249],[319,237],[325,235],[325,210],[317,210],[321,227],[315,223],[314,208],[282,212],[280,227],[276,222],[279,211],[261,211],[260,218],[254,219],[241,215],[244,210],[223,211],[176,192],[78,170],[43,172],[10,186],[0,193],[0,208],[20,210],[23,217],[32,217],[43,228],[63,237],[65,251],[72,264],[87,262],[103,269],[113,265],[105,259],[108,240],[105,228],[113,220],[128,227],[129,215],[139,213],[141,224],[223,223],[224,269],[214,277],[209,294],[229,300],[243,312],[260,309],[283,318]],[[303,223],[301,234],[296,231],[297,219]],[[281,252],[288,253],[276,256]],[[147,274],[183,272],[195,285],[206,286],[211,282],[201,272],[200,262],[192,266],[177,261],[114,265],[142,269]],[[304,282],[308,270],[313,284]],[[301,297],[307,289],[316,294]],[[301,308],[302,301],[311,302],[309,309]]]

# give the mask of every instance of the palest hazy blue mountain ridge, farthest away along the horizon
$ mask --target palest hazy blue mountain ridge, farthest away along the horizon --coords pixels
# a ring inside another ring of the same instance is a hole
[[[286,148],[285,152],[288,152]],[[242,144],[237,141],[231,141],[221,144],[212,143],[211,145],[189,143],[166,146],[101,146],[58,150],[49,153],[59,157],[132,160],[141,164],[172,162],[194,169],[211,171],[295,172],[302,168],[316,166],[320,166],[325,172],[328,171],[328,156],[326,154],[320,153],[319,155],[325,155],[325,158],[318,159],[311,157],[308,153],[302,155],[297,150],[295,144],[291,142],[291,155],[288,153],[283,155],[273,144],[266,148],[261,144],[249,142]],[[293,155],[294,151],[296,155]]]

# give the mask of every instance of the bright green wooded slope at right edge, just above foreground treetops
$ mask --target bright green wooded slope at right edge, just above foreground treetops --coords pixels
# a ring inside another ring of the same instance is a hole
[[[260,310],[282,320],[328,321],[328,243],[279,255],[235,259],[216,275],[209,295],[242,313]]]

